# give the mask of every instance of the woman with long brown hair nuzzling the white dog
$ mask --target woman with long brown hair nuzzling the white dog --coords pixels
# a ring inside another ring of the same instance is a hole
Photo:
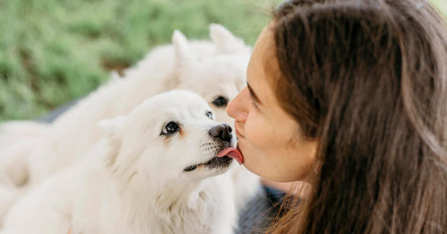
[[[283,3],[227,113],[245,167],[312,186],[269,233],[447,233],[447,29],[425,0]]]

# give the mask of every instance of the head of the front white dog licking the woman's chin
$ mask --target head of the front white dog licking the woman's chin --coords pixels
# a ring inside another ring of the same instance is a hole
[[[204,179],[238,157],[231,127],[216,122],[207,102],[189,91],[156,95],[99,126],[108,133],[107,166],[139,183]]]

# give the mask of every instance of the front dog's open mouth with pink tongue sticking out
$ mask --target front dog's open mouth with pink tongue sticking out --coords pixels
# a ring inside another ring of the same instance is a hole
[[[202,166],[206,166],[210,169],[224,168],[231,164],[233,158],[236,159],[239,164],[242,163],[242,154],[237,149],[228,147],[221,151],[217,156],[211,158],[209,161],[187,166],[183,169],[183,171],[193,171]]]

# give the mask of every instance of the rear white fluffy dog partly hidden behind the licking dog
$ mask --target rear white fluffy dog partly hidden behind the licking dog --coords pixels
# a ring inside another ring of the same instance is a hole
[[[28,186],[36,185],[88,154],[103,137],[97,121],[127,115],[148,97],[173,88],[198,93],[209,102],[219,121],[232,125],[225,107],[213,106],[211,102],[221,95],[230,100],[243,88],[251,49],[221,25],[212,24],[210,36],[212,42],[188,42],[176,31],[172,45],[152,50],[136,67],[126,70],[124,78],[114,76],[53,124],[42,128],[43,134],[33,140],[20,140],[21,146],[0,152],[0,160],[8,162],[0,171],[5,171],[16,185],[26,180]],[[236,206],[242,207],[254,194],[258,178],[243,166],[231,169],[230,173],[236,188]],[[0,227],[2,207],[8,206],[0,204]]]

